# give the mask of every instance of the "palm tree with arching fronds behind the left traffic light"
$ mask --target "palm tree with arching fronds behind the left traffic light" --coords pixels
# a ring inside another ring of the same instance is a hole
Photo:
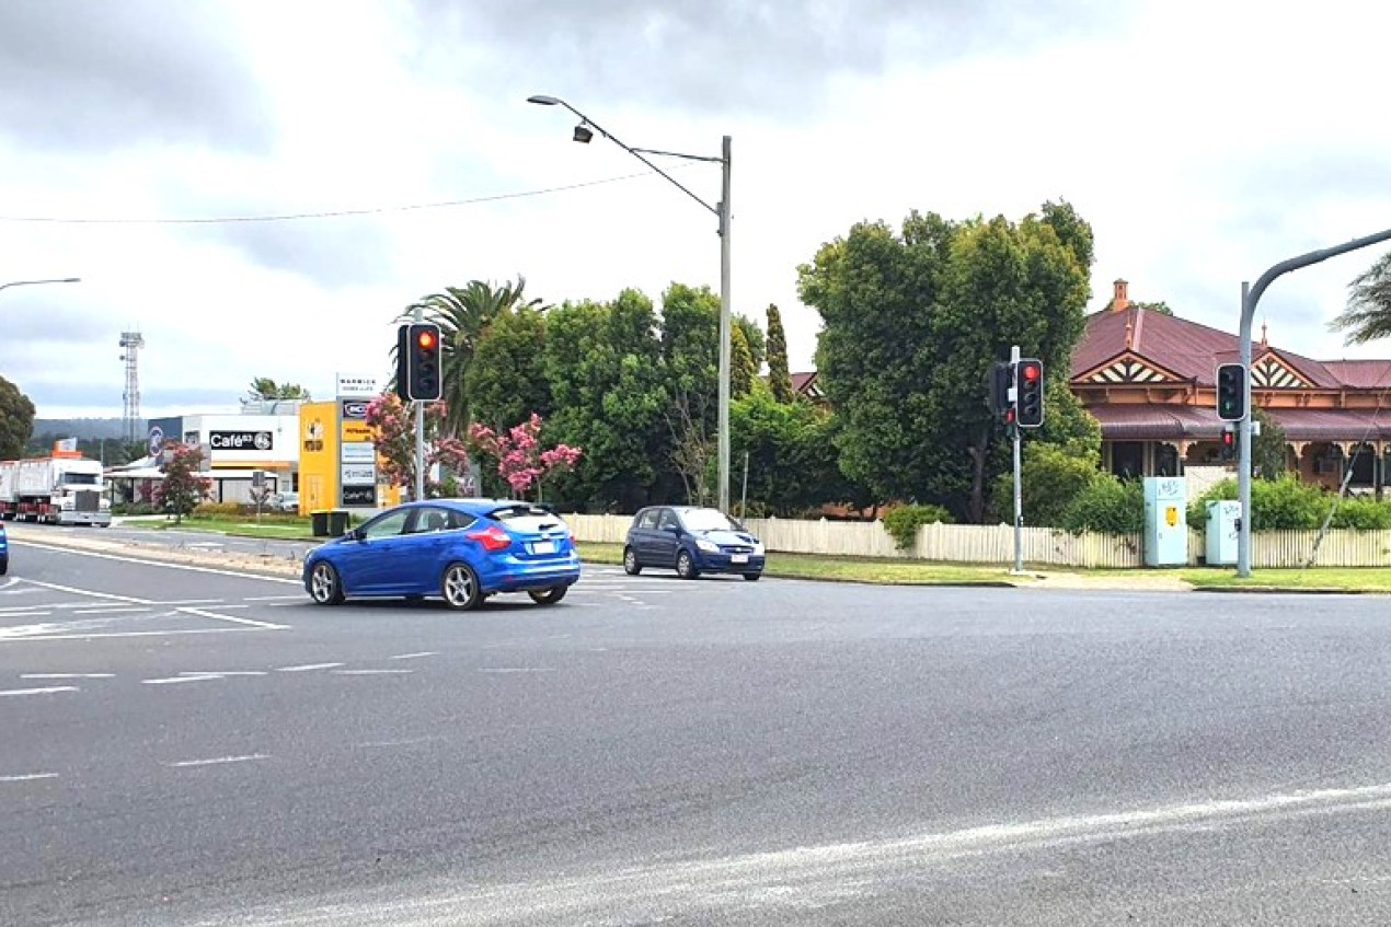
[[[440,327],[441,388],[445,403],[442,429],[447,435],[459,436],[469,427],[465,372],[473,361],[483,332],[504,313],[541,306],[540,299],[527,300],[524,290],[526,278],[520,274],[516,285],[494,286],[483,281],[470,281],[463,288],[445,286],[442,293],[431,293],[401,313],[398,321],[412,321],[419,306],[424,321]]]

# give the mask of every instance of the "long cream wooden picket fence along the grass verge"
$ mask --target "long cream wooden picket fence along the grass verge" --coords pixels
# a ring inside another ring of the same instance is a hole
[[[566,523],[580,541],[622,543],[632,516],[568,514]],[[1010,525],[929,524],[918,530],[912,550],[900,550],[882,521],[830,521],[798,518],[747,518],[771,552],[819,553],[846,557],[893,557],[938,563],[1011,564],[1014,530]],[[1302,567],[1314,553],[1317,531],[1262,531],[1252,538],[1252,567]],[[1024,528],[1024,561],[1050,567],[1143,567],[1139,534],[1068,534],[1056,528]],[[1189,532],[1188,563],[1203,561],[1206,541]],[[1391,566],[1391,531],[1333,530],[1319,542],[1314,566]]]

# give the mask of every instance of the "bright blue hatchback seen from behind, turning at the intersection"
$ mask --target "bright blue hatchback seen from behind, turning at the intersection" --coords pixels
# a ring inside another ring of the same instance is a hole
[[[499,499],[431,499],[383,511],[305,557],[319,605],[352,598],[438,596],[472,609],[526,592],[555,605],[580,578],[570,530],[549,509]]]

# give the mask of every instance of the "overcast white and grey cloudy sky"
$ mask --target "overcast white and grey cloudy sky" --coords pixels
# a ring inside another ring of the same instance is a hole
[[[718,289],[714,217],[533,93],[630,146],[733,136],[734,309],[776,303],[797,370],[797,265],[912,208],[1070,200],[1092,309],[1124,277],[1235,331],[1242,279],[1391,227],[1388,33],[1373,0],[3,0],[0,284],[82,282],[0,292],[0,375],[120,416],[138,329],[145,417],[235,410],[253,377],[385,375],[447,285]],[[719,199],[716,164],[668,165]],[[1281,279],[1257,332],[1391,357],[1327,329],[1378,253]]]

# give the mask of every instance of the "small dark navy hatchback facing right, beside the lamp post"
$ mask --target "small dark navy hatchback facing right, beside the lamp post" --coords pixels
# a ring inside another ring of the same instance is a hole
[[[633,516],[623,545],[623,571],[676,570],[684,580],[701,573],[764,574],[764,545],[719,509],[651,506]]]

